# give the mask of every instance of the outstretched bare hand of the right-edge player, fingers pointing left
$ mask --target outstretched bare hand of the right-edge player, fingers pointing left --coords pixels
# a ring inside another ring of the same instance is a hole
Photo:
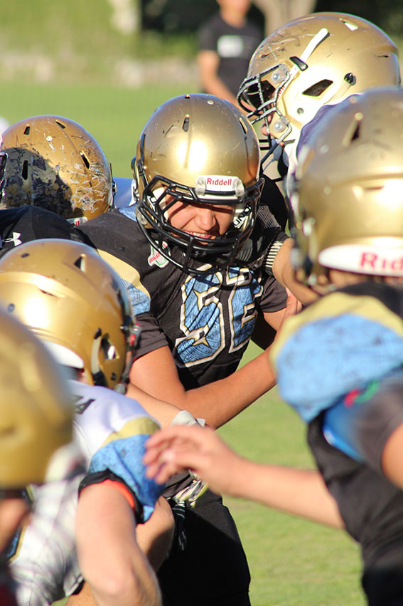
[[[146,442],[146,475],[163,484],[178,471],[191,469],[211,490],[234,494],[242,459],[210,427],[166,427]]]

